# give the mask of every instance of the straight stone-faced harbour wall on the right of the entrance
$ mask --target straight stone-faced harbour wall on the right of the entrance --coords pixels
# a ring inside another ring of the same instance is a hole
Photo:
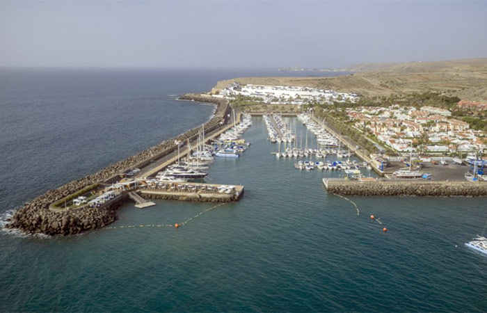
[[[415,195],[433,197],[486,197],[487,182],[434,181],[346,181],[323,179],[330,193],[339,195]]]

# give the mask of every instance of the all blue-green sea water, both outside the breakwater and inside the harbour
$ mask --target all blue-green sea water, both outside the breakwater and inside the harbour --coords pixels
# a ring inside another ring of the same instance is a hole
[[[211,117],[214,106],[178,95],[277,74],[306,73],[0,70],[1,219]],[[304,136],[296,118],[286,120]],[[0,311],[487,310],[487,257],[463,246],[484,230],[485,199],[351,197],[358,215],[321,184],[340,172],[276,160],[264,121],[253,122],[248,150],[216,159],[206,179],[243,184],[239,202],[127,202],[110,227],[79,236],[1,231]]]

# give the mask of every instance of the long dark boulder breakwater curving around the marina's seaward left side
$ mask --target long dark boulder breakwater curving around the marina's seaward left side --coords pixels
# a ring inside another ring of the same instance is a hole
[[[198,95],[184,95],[181,99],[194,100],[198,102],[211,102],[216,104],[217,108],[213,118],[206,124],[205,129],[216,129],[225,122],[228,111],[228,102],[223,99],[214,99],[211,97],[200,97]],[[104,182],[122,172],[135,168],[138,164],[147,161],[164,152],[170,153],[175,150],[175,141],[186,141],[198,134],[200,127],[186,131],[186,133],[163,141],[159,145],[150,147],[142,152],[131,156],[125,160],[113,163],[94,174],[87,175],[81,179],[74,180],[57,189],[47,191],[45,194],[24,204],[13,214],[13,217],[7,220],[6,227],[10,229],[21,230],[30,234],[49,234],[49,235],[67,235],[79,234],[86,230],[93,230],[104,227],[116,219],[115,209],[118,203],[108,207],[74,209],[69,211],[50,211],[49,204],[54,203],[67,195],[95,184]]]

